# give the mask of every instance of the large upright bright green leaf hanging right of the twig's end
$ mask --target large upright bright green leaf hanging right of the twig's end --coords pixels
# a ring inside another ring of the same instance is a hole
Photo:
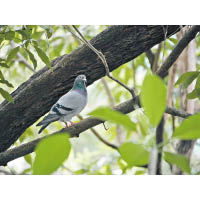
[[[150,123],[157,126],[166,109],[166,86],[158,76],[147,74],[143,81],[140,98]]]

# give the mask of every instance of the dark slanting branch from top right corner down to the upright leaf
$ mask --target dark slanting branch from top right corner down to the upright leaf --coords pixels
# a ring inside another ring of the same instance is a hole
[[[192,41],[200,31],[200,26],[193,26],[179,41],[171,54],[167,57],[161,68],[156,72],[160,77],[165,77],[169,68],[173,65],[176,59],[180,56],[185,47]]]

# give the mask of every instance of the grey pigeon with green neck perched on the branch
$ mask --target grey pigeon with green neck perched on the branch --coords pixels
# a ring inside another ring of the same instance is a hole
[[[72,89],[58,99],[51,107],[49,114],[44,117],[36,126],[42,126],[38,134],[40,134],[50,123],[55,121],[64,122],[66,128],[74,123],[71,122],[72,117],[78,115],[87,104],[87,79],[84,74],[76,77]]]

